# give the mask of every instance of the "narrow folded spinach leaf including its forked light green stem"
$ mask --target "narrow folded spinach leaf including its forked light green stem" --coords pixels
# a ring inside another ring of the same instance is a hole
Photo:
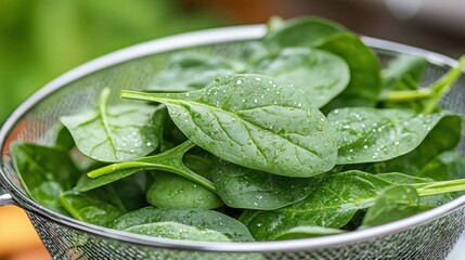
[[[142,170],[162,170],[184,177],[185,179],[215,192],[215,185],[209,180],[192,171],[183,162],[184,154],[193,146],[195,146],[195,144],[191,141],[185,141],[181,145],[162,154],[141,157],[133,161],[125,161],[102,167],[89,172],[88,176],[90,178],[83,178],[80,180],[76,185],[76,190],[80,192],[90,191]]]

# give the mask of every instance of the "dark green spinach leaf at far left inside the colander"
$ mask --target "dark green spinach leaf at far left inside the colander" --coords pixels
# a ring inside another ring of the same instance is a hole
[[[43,207],[67,214],[57,197],[70,190],[79,178],[67,152],[20,142],[13,143],[10,150],[26,194]]]

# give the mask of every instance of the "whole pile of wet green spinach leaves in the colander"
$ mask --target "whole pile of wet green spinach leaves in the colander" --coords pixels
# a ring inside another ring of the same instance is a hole
[[[236,60],[180,52],[147,92],[109,89],[61,119],[54,146],[14,143],[27,194],[92,224],[218,242],[340,234],[465,191],[462,118],[438,106],[465,58],[421,88],[426,60],[382,69],[357,35],[270,22]]]

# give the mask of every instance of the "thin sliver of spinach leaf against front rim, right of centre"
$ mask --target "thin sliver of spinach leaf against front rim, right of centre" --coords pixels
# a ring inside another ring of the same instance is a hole
[[[299,225],[283,231],[272,237],[272,240],[286,240],[286,239],[298,239],[298,238],[308,238],[308,237],[317,237],[317,236],[326,236],[326,235],[337,235],[343,234],[347,231],[323,227],[318,225]]]

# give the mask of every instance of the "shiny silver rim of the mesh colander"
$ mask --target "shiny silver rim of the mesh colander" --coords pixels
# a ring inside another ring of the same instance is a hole
[[[43,99],[46,99],[53,92],[76,80],[79,80],[80,78],[83,78],[90,74],[96,73],[114,65],[118,65],[144,56],[150,56],[156,53],[179,50],[188,47],[256,40],[262,37],[264,32],[264,25],[242,25],[180,34],[177,36],[165,37],[128,47],[92,60],[88,63],[85,63],[47,83],[36,93],[34,93],[29,99],[23,102],[10,115],[10,117],[4,121],[3,126],[0,129],[0,151],[4,150],[3,146],[11,129],[15,126],[15,122],[22,118],[23,115],[25,115],[31,107],[34,107],[36,104],[41,102]],[[361,39],[367,46],[377,50],[378,52],[386,51],[397,52],[399,54],[408,53],[413,55],[421,55],[426,57],[429,63],[440,66],[451,67],[457,64],[457,62],[451,57],[435,52],[426,51],[419,48],[414,48],[398,42],[365,36],[362,36]],[[14,202],[17,205],[24,207],[24,209],[40,214],[62,225],[73,227],[75,230],[137,245],[155,246],[179,250],[216,252],[297,251],[302,249],[323,249],[346,244],[361,243],[364,240],[374,239],[379,236],[389,235],[431,222],[438,218],[451,213],[452,211],[458,209],[465,204],[464,195],[428,211],[396,222],[332,236],[279,242],[211,243],[148,237],[106,229],[62,216],[38,205],[37,203],[29,199],[18,188],[16,188],[11,183],[11,181],[7,179],[3,172],[3,161],[0,161],[0,181],[4,185],[5,191],[13,197]]]

